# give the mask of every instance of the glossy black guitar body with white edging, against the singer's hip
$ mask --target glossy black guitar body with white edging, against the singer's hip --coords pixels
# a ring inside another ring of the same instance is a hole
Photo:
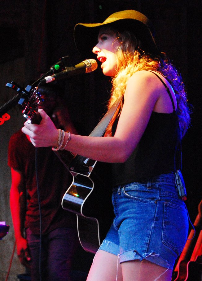
[[[62,199],[62,207],[77,214],[81,246],[91,253],[99,249],[114,217],[110,167],[110,164],[97,162],[89,173],[70,170],[72,184]]]

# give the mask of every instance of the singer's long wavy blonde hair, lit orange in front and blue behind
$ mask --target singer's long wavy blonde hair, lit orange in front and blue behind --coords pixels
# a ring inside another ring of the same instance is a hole
[[[112,90],[108,102],[108,109],[111,108],[117,99],[122,99],[115,115],[106,129],[105,136],[112,136],[112,126],[121,112],[123,96],[129,78],[139,70],[154,70],[162,73],[175,91],[178,103],[177,114],[182,137],[186,133],[190,124],[190,109],[187,105],[187,95],[185,93],[181,75],[165,57],[165,54],[162,59],[159,55],[152,55],[144,52],[142,50],[141,41],[131,32],[116,32],[116,35],[116,39],[120,41],[120,45],[116,50],[117,72],[112,79]]]

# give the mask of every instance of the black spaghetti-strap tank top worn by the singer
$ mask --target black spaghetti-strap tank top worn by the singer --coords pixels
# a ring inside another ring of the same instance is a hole
[[[127,161],[112,164],[114,186],[173,173],[180,168],[175,159],[180,144],[178,116],[168,87],[156,73],[154,74],[166,87],[173,104],[173,113],[152,112],[138,146]]]

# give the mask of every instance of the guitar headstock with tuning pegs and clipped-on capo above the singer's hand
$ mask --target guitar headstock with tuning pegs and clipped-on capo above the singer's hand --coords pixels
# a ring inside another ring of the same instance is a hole
[[[29,120],[29,123],[39,124],[41,118],[37,115],[39,104],[43,101],[41,95],[37,92],[37,88],[32,88],[27,86],[25,89],[20,85],[12,81],[11,83],[6,84],[7,87],[14,89],[20,94],[21,98],[18,101],[18,104],[22,105],[23,116]]]

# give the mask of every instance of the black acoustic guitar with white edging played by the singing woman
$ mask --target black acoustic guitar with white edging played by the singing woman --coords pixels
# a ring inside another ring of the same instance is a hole
[[[14,81],[6,86],[17,91],[19,98],[21,96],[18,103],[22,105],[24,117],[31,123],[39,124],[41,119],[37,111],[43,100],[37,89],[29,85],[24,89]],[[72,184],[63,196],[62,207],[77,215],[81,246],[88,252],[96,253],[114,217],[111,164],[73,156],[66,150],[55,153],[72,175]]]

